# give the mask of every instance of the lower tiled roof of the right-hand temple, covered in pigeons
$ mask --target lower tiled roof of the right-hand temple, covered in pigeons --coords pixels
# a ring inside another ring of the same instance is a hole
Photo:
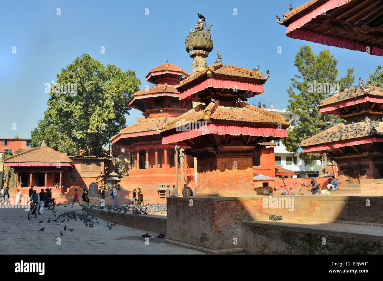
[[[367,122],[364,120],[362,122],[355,122],[354,124],[338,124],[334,127],[331,127],[319,134],[312,136],[306,140],[301,141],[301,147],[313,146],[323,143],[337,143],[344,140],[354,140],[357,138],[362,138],[368,135],[372,135],[367,130]],[[383,135],[383,126],[380,124],[379,127],[376,127],[376,134]]]

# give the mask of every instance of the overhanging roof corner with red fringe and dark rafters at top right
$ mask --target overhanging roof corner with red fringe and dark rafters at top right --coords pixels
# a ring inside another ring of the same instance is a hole
[[[277,22],[291,38],[383,56],[382,9],[376,0],[311,0]]]

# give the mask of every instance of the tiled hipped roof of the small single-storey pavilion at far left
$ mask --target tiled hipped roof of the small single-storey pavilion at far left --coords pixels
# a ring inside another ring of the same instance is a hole
[[[31,148],[22,153],[8,157],[5,163],[9,162],[61,162],[72,163],[68,157],[50,147]]]

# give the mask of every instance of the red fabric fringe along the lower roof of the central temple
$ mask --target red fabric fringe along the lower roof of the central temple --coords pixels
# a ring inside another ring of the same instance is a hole
[[[278,138],[286,138],[287,132],[285,129],[277,128],[263,128],[263,127],[250,127],[250,126],[238,126],[228,124],[216,124],[207,123],[200,128],[186,132],[177,132],[175,134],[164,136],[162,138],[162,144],[175,143],[177,141],[183,141],[196,136],[205,134],[216,134],[216,135],[251,135],[251,136],[275,136]],[[261,140],[262,141],[262,140]]]

